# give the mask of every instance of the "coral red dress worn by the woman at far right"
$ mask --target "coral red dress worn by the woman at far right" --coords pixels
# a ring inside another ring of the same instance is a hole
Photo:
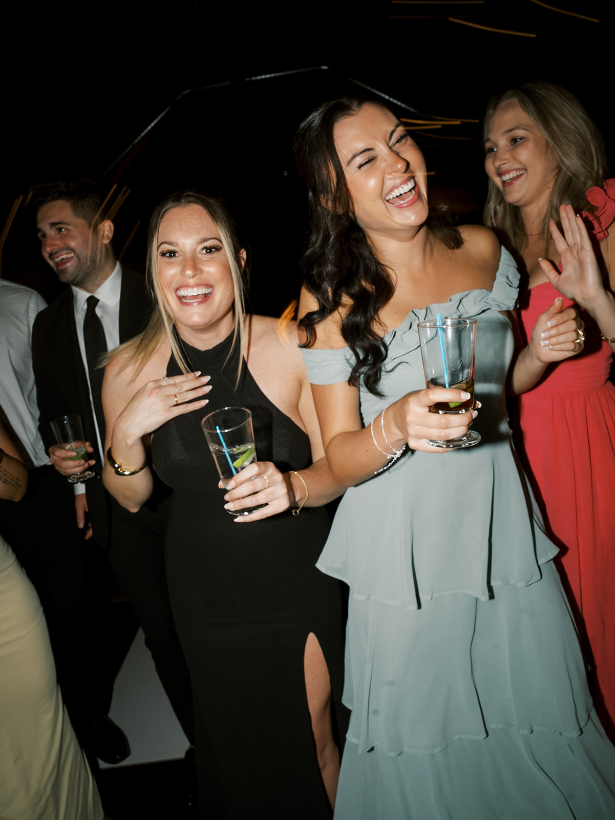
[[[550,282],[522,294],[526,341],[558,295]],[[564,307],[570,305],[564,299]],[[586,333],[582,353],[549,367],[519,397],[519,449],[549,536],[560,548],[555,561],[576,609],[595,704],[615,739],[615,387],[608,380],[613,352],[595,321],[585,311],[580,315]]]

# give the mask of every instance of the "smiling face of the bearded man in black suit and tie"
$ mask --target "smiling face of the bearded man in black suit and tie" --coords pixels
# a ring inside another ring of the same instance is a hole
[[[61,282],[93,294],[111,276],[113,222],[106,219],[90,229],[63,199],[40,207],[36,220],[43,258]]]

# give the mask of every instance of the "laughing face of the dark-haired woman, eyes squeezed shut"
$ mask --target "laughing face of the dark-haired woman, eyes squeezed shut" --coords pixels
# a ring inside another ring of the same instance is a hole
[[[425,161],[386,108],[366,104],[333,132],[353,216],[374,241],[402,235],[427,219]]]

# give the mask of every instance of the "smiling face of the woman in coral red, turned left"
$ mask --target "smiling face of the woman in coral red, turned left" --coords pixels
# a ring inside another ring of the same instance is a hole
[[[558,163],[536,123],[517,99],[495,109],[485,141],[485,170],[511,205],[543,213]]]

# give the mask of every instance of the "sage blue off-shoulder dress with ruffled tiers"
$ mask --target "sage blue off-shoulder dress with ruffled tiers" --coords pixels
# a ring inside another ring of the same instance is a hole
[[[615,816],[615,749],[595,722],[557,548],[511,443],[502,311],[517,294],[503,249],[491,292],[410,312],[385,337],[383,397],[360,389],[367,425],[425,386],[418,321],[477,318],[481,443],[406,452],[350,488],[319,558],[350,586],[336,820]],[[313,384],[350,375],[347,348],[304,355]]]

